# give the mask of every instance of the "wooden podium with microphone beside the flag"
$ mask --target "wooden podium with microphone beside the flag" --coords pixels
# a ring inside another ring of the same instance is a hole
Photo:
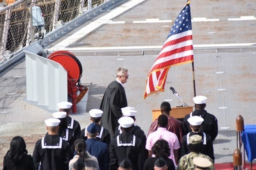
[[[176,119],[183,119],[186,115],[193,111],[193,106],[172,107],[170,115]],[[161,109],[153,109],[153,121],[161,115]]]

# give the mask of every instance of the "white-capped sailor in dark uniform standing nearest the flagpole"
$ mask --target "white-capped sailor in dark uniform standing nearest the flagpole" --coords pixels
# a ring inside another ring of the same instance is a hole
[[[193,98],[193,101],[195,103],[195,111],[186,115],[183,119],[183,134],[188,134],[188,132],[191,131],[190,124],[188,123],[188,118],[192,116],[200,116],[204,119],[201,131],[209,134],[212,138],[212,141],[214,141],[218,135],[218,120],[214,115],[207,113],[207,111],[204,110],[206,107],[206,99],[207,97],[205,96],[196,96]]]

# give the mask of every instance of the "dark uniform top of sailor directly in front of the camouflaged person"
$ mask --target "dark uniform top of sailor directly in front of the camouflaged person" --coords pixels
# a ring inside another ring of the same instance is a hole
[[[212,145],[212,139],[210,135],[204,133],[204,132],[189,132],[188,134],[184,135],[182,137],[182,145],[181,145],[181,150],[180,150],[180,155],[184,156],[186,154],[189,154],[187,145],[189,143],[189,136],[192,136],[194,134],[198,134],[202,137],[202,148],[200,149],[200,152],[202,154],[205,154],[212,158],[214,162],[214,150],[213,150],[213,145]]]

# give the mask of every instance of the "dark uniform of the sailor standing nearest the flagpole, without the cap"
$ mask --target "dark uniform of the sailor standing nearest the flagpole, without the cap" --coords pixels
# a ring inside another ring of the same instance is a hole
[[[212,141],[214,141],[218,135],[218,120],[214,115],[207,113],[206,110],[195,110],[194,112],[192,112],[192,114],[190,113],[185,116],[182,123],[183,134],[188,134],[188,132],[191,132],[188,118],[192,116],[200,116],[204,119],[200,131],[209,134],[212,138]]]

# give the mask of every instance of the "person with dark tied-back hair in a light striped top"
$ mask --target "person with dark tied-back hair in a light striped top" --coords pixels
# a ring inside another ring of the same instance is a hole
[[[74,142],[75,150],[77,154],[74,156],[72,160],[69,162],[69,170],[73,169],[74,163],[80,158],[84,160],[85,169],[86,170],[99,170],[98,160],[95,156],[90,155],[89,152],[86,151],[86,143],[84,139],[76,139]]]

